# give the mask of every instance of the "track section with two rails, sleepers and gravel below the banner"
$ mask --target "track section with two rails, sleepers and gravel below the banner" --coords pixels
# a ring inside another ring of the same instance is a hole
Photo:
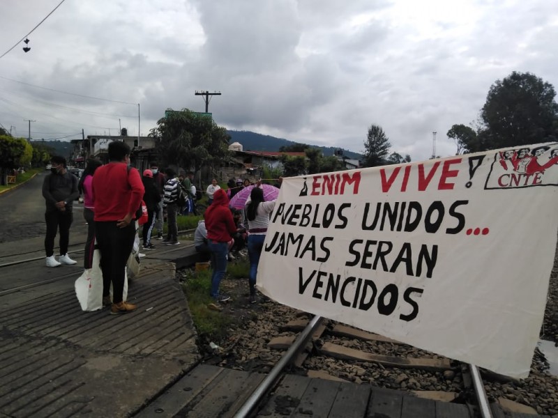
[[[270,350],[285,353],[276,368],[282,366],[291,373],[312,378],[402,389],[421,398],[462,403],[472,416],[491,416],[482,380],[472,376],[470,365],[318,317],[291,320],[282,330],[282,336],[267,344]],[[300,339],[306,341],[301,343]],[[407,346],[409,356],[377,354],[389,353],[394,345]],[[430,390],[421,385],[425,378]]]

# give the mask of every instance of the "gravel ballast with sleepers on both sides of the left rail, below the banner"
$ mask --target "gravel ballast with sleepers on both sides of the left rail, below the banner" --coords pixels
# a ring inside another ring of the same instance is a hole
[[[213,341],[220,346],[217,350],[209,348],[209,340],[202,341],[206,363],[270,373],[310,316],[266,298],[257,305],[248,305],[247,283],[243,279],[226,279],[221,286],[233,298],[221,314],[234,316],[237,324],[232,325],[227,338]],[[287,372],[411,392],[422,398],[467,405],[476,412],[481,410],[478,406],[481,398],[481,404],[502,403],[508,411],[543,415],[550,410],[549,415],[554,414],[555,384],[548,375],[541,379],[544,371],[538,353],[531,376],[512,380],[329,320],[312,332],[310,342],[289,362]],[[485,389],[488,396],[483,393]],[[543,398],[550,408],[539,408],[538,398]]]

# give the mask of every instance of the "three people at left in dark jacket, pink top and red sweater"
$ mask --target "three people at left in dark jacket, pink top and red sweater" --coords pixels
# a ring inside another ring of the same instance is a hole
[[[130,169],[130,147],[114,141],[108,147],[108,164],[91,161],[79,183],[68,172],[66,159],[51,159],[52,173],[43,182],[45,198],[45,252],[47,267],[76,264],[68,256],[70,225],[73,222],[73,201],[84,196],[84,218],[88,224],[84,268],[91,268],[93,245],[100,251],[103,272],[103,306],[111,305],[111,314],[134,311],[137,306],[123,300],[126,263],[135,240],[135,217],[142,199],[144,185],[140,173]],[[54,258],[54,238],[59,231],[60,256]],[[110,285],[112,284],[112,300]]]

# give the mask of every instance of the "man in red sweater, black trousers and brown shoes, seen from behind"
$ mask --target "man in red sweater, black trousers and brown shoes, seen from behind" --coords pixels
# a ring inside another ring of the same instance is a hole
[[[123,299],[126,261],[135,239],[135,212],[142,203],[144,185],[137,169],[129,169],[130,147],[124,142],[109,144],[110,162],[93,176],[94,220],[100,268],[103,271],[103,304],[110,303],[111,314],[125,314],[136,309]]]

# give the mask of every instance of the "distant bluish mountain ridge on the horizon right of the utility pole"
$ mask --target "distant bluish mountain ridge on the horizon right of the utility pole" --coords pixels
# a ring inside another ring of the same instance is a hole
[[[250,131],[236,131],[227,130],[227,134],[230,135],[230,143],[239,142],[242,144],[243,150],[245,151],[278,151],[282,146],[292,146],[295,144],[304,144],[296,141],[289,141],[288,139],[271,137],[270,135],[257,134],[256,132]],[[310,144],[308,144],[310,145]],[[335,150],[342,148],[335,148],[332,146],[314,146],[315,148],[320,148],[324,157],[333,155]],[[349,150],[343,150],[343,155],[348,158],[353,158],[354,160],[362,160],[363,156],[359,153],[353,153]]]

